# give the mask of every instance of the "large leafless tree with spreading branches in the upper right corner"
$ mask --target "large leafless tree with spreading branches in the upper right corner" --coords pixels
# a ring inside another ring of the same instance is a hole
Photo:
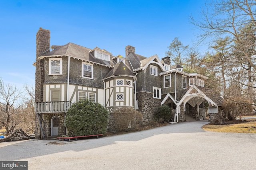
[[[247,47],[241,41],[239,29],[244,25],[252,24],[256,27],[256,1],[255,0],[212,0],[202,8],[201,18],[195,20],[190,17],[191,23],[201,31],[198,35],[200,41],[208,39],[216,40],[221,36],[229,36],[236,41],[245,59],[252,68],[256,70],[256,63],[250,59],[251,55],[247,53]],[[254,54],[256,51],[254,50]]]

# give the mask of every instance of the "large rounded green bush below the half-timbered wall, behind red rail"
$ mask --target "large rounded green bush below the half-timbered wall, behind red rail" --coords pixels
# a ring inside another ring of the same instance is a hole
[[[104,134],[108,127],[108,110],[88,99],[80,100],[68,109],[65,124],[68,136]]]

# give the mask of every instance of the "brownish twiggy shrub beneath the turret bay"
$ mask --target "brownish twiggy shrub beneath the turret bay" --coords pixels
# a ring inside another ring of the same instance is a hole
[[[133,108],[121,107],[112,113],[114,124],[119,131],[128,131],[142,122],[142,113]],[[134,119],[135,117],[135,119]]]

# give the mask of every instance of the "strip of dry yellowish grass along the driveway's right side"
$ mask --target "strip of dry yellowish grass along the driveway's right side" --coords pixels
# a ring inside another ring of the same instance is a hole
[[[244,123],[231,125],[204,125],[202,129],[226,133],[256,133],[256,121],[244,121]]]

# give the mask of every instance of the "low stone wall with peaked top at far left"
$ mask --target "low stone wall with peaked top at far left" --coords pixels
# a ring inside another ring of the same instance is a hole
[[[5,138],[1,138],[0,142],[22,141],[34,138],[35,137],[27,135],[22,129],[16,129],[12,134],[8,135]]]

